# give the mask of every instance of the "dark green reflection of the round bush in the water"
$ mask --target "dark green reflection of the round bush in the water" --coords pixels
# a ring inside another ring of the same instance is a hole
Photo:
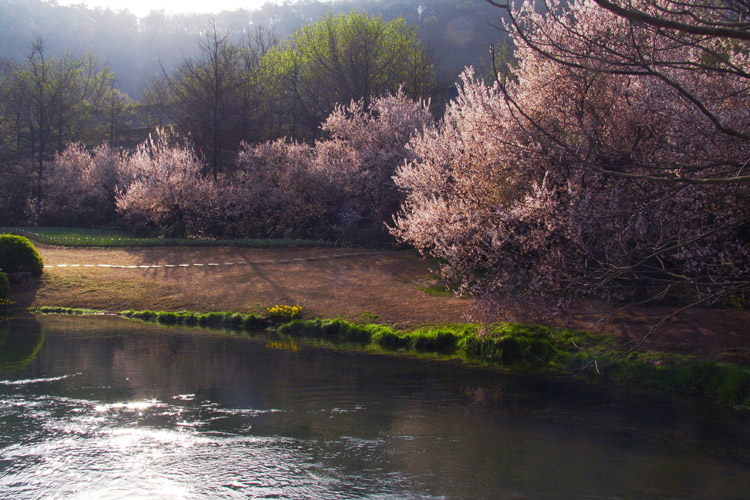
[[[44,330],[33,317],[0,318],[0,373],[24,368],[39,354]]]

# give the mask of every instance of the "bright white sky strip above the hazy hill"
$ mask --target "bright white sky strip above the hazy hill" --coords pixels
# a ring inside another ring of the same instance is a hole
[[[145,16],[152,10],[166,12],[219,12],[239,8],[254,10],[267,3],[279,0],[58,0],[59,5],[85,4],[91,8],[129,10],[137,16]]]

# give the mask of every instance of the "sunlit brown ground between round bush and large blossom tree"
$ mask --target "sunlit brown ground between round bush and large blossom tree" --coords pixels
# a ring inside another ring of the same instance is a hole
[[[330,248],[125,248],[70,249],[38,245],[45,266],[58,264],[190,267],[116,269],[45,268],[40,282],[14,290],[23,306],[263,312],[299,304],[306,317],[347,317],[414,326],[464,320],[469,302],[419,290],[432,281],[430,263],[412,252],[362,253]],[[289,260],[270,263],[267,261]],[[266,263],[253,262],[266,261]],[[232,262],[228,266],[224,263]],[[192,264],[204,264],[194,266]],[[209,266],[218,263],[219,266]],[[242,264],[240,264],[242,263]]]

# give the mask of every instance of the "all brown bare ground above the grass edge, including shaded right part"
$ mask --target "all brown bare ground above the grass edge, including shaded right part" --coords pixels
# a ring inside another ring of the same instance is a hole
[[[38,245],[46,268],[39,281],[16,285],[12,298],[25,307],[263,312],[275,304],[299,304],[305,317],[345,317],[409,327],[467,321],[471,301],[436,297],[420,287],[435,283],[434,261],[413,252],[246,248],[72,249]],[[305,259],[305,260],[294,260]],[[288,262],[278,262],[288,260]],[[263,263],[257,263],[262,261]],[[273,262],[270,262],[273,261]],[[234,265],[225,265],[233,262]],[[256,262],[256,263],[253,263]],[[204,264],[194,266],[193,264]],[[209,266],[218,263],[219,266]],[[239,264],[244,263],[244,264]],[[58,264],[179,265],[159,269],[56,267]],[[574,306],[565,320],[529,317],[520,305],[508,320],[564,325],[634,340],[665,308],[631,308],[605,318],[610,308]],[[694,309],[669,321],[645,344],[655,350],[712,359],[750,361],[750,311]]]

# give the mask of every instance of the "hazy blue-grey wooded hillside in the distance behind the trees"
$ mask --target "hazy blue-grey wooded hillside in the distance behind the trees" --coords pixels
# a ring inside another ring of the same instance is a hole
[[[216,15],[155,11],[144,18],[43,0],[0,0],[0,59],[23,61],[32,39],[41,37],[51,55],[90,53],[109,67],[116,88],[139,99],[155,77],[172,73],[198,54],[198,39],[209,24],[237,40],[264,28],[281,41],[329,13],[352,11],[382,15],[384,21],[403,18],[431,53],[441,81],[449,85],[467,65],[489,68],[490,44],[505,39],[498,29],[501,11],[484,0],[299,1]]]

